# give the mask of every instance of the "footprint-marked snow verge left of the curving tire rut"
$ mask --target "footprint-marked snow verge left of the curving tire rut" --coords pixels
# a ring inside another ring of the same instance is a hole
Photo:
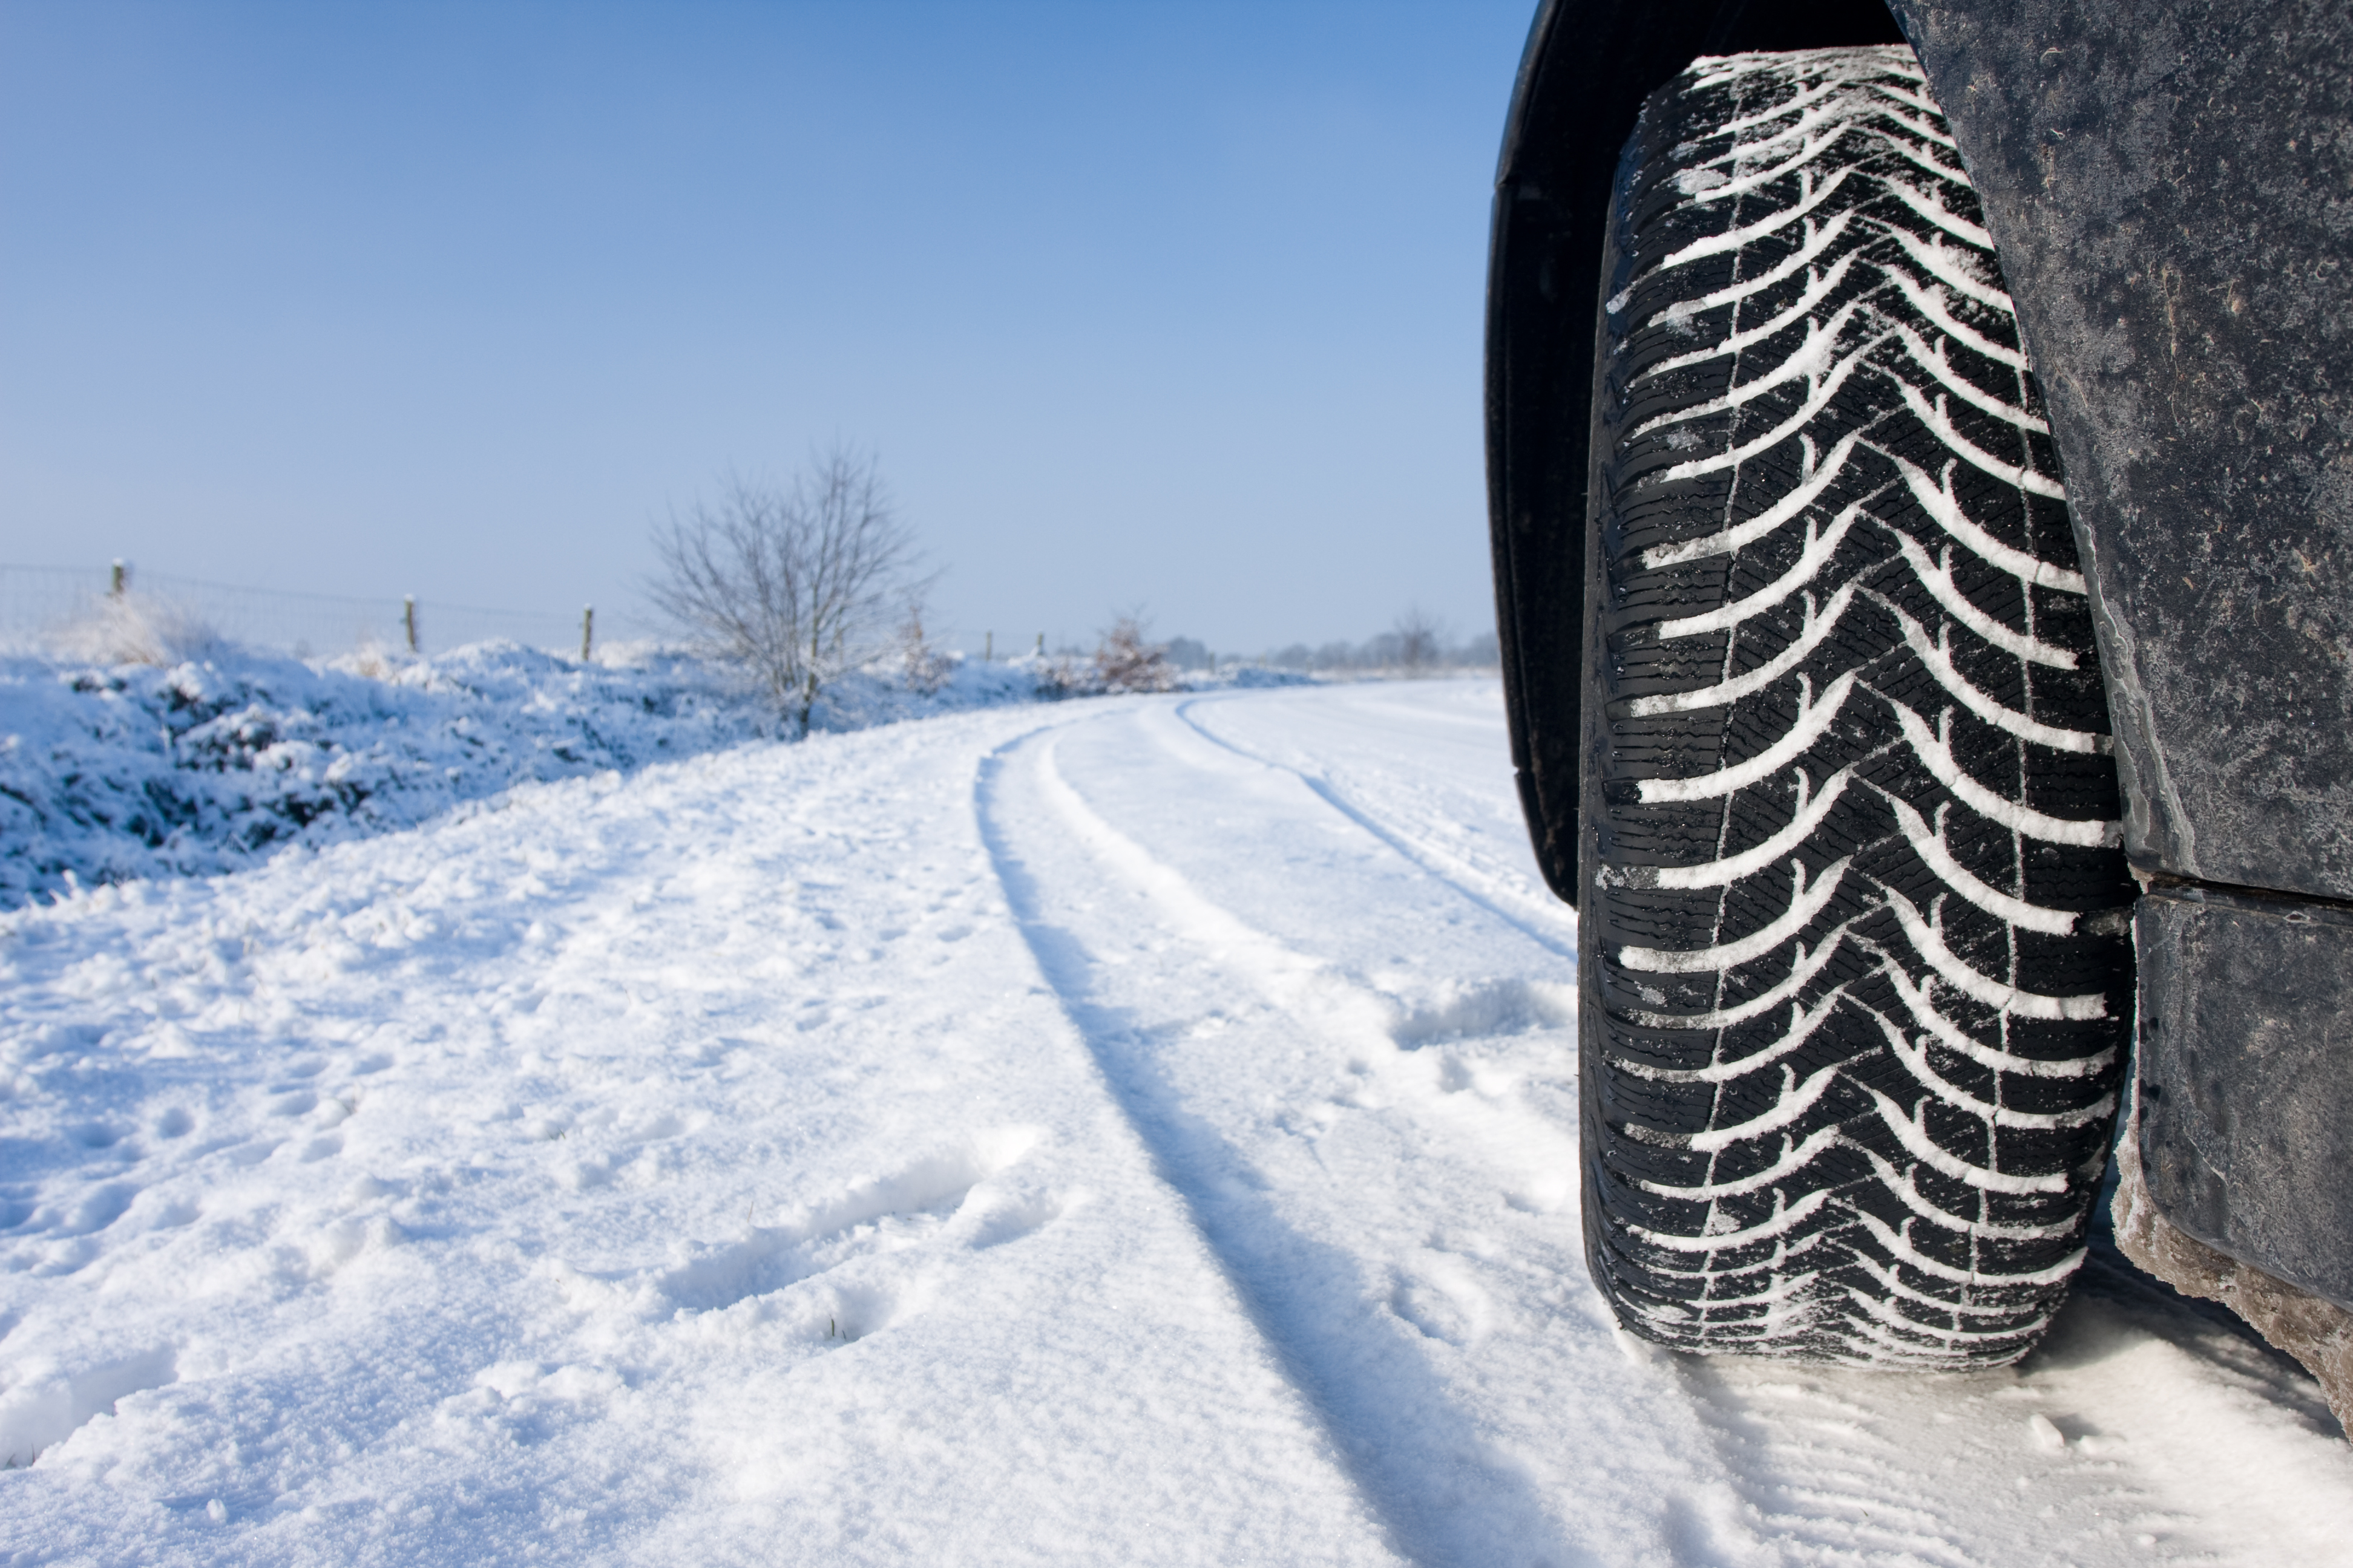
[[[687,1561],[788,1526],[809,1561],[1160,1561],[1299,1514],[1351,1556],[1346,1488],[1231,1497],[1313,1476],[1299,1399],[1052,999],[1005,983],[939,738],[16,917],[12,978],[106,1023],[12,1041],[82,1121],[9,1103],[54,1154],[0,1420],[54,1443],[35,1385],[158,1387],[7,1479],[9,1544]],[[155,943],[129,994],[89,922]],[[1129,1429],[1148,1453],[1101,1443]]]

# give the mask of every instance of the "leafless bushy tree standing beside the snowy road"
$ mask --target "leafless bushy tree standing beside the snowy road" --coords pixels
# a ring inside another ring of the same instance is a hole
[[[800,733],[824,684],[887,651],[892,611],[925,588],[880,465],[847,447],[814,454],[786,489],[729,477],[718,505],[656,529],[654,552],[654,604]]]

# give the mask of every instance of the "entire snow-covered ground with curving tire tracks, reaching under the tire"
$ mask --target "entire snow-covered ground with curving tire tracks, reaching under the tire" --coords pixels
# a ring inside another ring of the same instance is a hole
[[[2353,1561],[2106,1248],[2012,1373],[1609,1328],[1485,682],[529,785],[0,973],[9,1561]]]

